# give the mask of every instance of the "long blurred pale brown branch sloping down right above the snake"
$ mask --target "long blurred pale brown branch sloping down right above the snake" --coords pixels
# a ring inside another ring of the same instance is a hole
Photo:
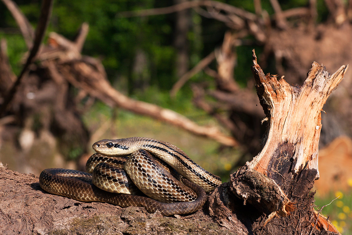
[[[71,84],[79,89],[85,90],[90,95],[101,99],[109,105],[121,107],[122,109],[140,115],[170,123],[195,135],[212,138],[226,146],[237,146],[237,142],[234,138],[226,136],[215,126],[200,126],[172,110],[126,97],[115,90],[105,76],[98,74],[97,71],[87,63],[75,60],[65,62],[58,68],[61,73],[65,74],[65,79]]]

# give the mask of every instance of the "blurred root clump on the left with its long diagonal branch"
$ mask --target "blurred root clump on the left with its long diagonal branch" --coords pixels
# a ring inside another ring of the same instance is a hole
[[[8,6],[13,6],[11,1],[6,0]],[[50,12],[50,8],[45,2],[43,3],[43,11]],[[23,18],[23,14],[19,8],[13,8],[12,13],[17,17],[22,16],[21,21],[27,22]],[[46,14],[48,17],[49,14]],[[40,18],[42,19],[42,18]],[[138,101],[127,97],[121,92],[113,88],[107,79],[107,74],[102,63],[89,56],[82,56],[81,50],[86,40],[89,26],[83,23],[74,41],[70,41],[64,36],[51,32],[48,37],[48,44],[40,44],[43,36],[44,27],[47,20],[41,20],[38,24],[36,32],[36,40],[33,50],[40,47],[38,54],[31,52],[29,59],[24,68],[30,67],[30,74],[26,77],[25,83],[20,83],[20,80],[13,87],[18,87],[18,92],[15,88],[10,89],[11,96],[6,96],[8,93],[9,81],[12,81],[11,67],[8,64],[6,57],[6,43],[2,43],[2,60],[1,64],[4,73],[1,74],[3,81],[1,97],[13,98],[13,102],[8,107],[6,115],[15,116],[13,124],[18,125],[20,131],[20,146],[14,148],[15,151],[30,151],[33,145],[36,144],[36,139],[48,142],[49,146],[58,146],[60,152],[69,159],[75,159],[81,156],[88,148],[87,144],[90,140],[89,131],[81,120],[80,103],[87,96],[98,98],[107,105],[112,107],[120,107],[144,116],[152,117],[156,120],[177,126],[187,130],[195,135],[213,139],[225,146],[238,146],[237,141],[228,136],[219,127],[215,125],[202,126],[196,124],[189,118],[172,111],[162,108],[155,104],[150,104],[143,101]],[[21,30],[25,36],[30,31]],[[37,64],[32,63],[32,58],[36,56]],[[26,69],[23,69],[25,71]],[[21,73],[23,75],[23,72]],[[19,77],[21,78],[21,76]],[[70,92],[70,84],[78,89],[77,96]],[[55,94],[55,95],[54,95]],[[6,102],[11,100],[5,98],[2,100],[2,109],[5,110]],[[87,102],[86,104],[92,105]],[[84,110],[88,110],[85,107]],[[37,120],[39,117],[39,120]],[[37,123],[36,123],[37,122]],[[7,123],[7,122],[6,122]],[[36,126],[33,129],[33,126]],[[15,133],[9,131],[8,133]],[[59,138],[56,143],[55,138]],[[16,136],[13,143],[17,141]],[[43,144],[39,144],[43,146]],[[50,149],[50,148],[49,148]],[[53,150],[54,151],[54,150]],[[55,152],[55,151],[54,151]],[[48,154],[48,153],[47,153]],[[50,155],[50,154],[49,154]]]

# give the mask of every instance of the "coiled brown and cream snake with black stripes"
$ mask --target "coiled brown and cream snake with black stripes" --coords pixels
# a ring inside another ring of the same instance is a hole
[[[146,137],[100,140],[86,171],[44,169],[39,185],[46,192],[82,202],[144,207],[163,216],[202,208],[207,193],[221,184],[180,148]]]

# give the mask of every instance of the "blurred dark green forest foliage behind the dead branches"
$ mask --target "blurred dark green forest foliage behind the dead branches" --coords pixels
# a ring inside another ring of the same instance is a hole
[[[253,1],[223,1],[230,5],[254,12]],[[41,1],[17,1],[17,4],[35,27]],[[166,7],[174,1],[156,0],[118,0],[118,1],[69,1],[54,2],[54,8],[48,32],[54,31],[69,39],[74,39],[76,32],[83,22],[90,26],[84,55],[99,57],[106,68],[108,78],[115,87],[128,95],[137,95],[139,98],[148,99],[143,95],[146,90],[155,92],[169,91],[177,81],[176,77],[176,49],[174,47],[175,13],[148,17],[121,18],[118,12],[135,11],[141,9]],[[283,8],[307,6],[307,0],[280,1]],[[262,1],[262,7],[269,14],[273,13],[269,1]],[[325,18],[327,11],[323,1],[318,1],[320,20]],[[219,47],[224,37],[227,26],[214,19],[200,16],[193,10],[191,14],[189,41],[189,68],[195,66],[203,57],[214,48]],[[0,7],[0,37],[7,38],[8,54],[14,72],[20,69],[20,59],[27,50],[18,26],[10,12],[2,5]],[[248,37],[248,39],[253,39]],[[254,42],[254,40],[253,40]],[[260,45],[244,45],[237,48],[238,66],[235,69],[236,80],[245,85],[251,78],[251,50],[255,48],[259,53]],[[146,68],[143,71],[144,84],[138,84],[133,71],[133,64],[137,51],[143,51],[147,58]],[[212,64],[215,68],[215,63]],[[275,70],[275,68],[272,68]],[[272,70],[271,70],[272,71]],[[209,80],[204,73],[195,75],[191,81]],[[140,89],[140,88],[143,89]],[[190,91],[187,86],[182,90],[182,96],[189,98]],[[163,95],[163,98],[165,96]]]

